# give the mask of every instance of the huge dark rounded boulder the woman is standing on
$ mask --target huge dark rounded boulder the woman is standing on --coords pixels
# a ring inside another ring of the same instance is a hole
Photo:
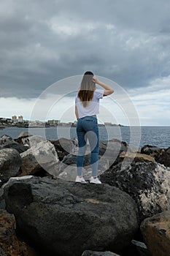
[[[134,200],[107,184],[32,177],[9,182],[4,198],[23,234],[47,255],[80,256],[87,248],[116,252],[139,227]]]

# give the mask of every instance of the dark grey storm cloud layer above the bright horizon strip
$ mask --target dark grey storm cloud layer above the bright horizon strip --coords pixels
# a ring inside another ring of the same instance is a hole
[[[168,76],[169,7],[168,0],[1,1],[0,97],[37,97],[86,69],[126,89]]]

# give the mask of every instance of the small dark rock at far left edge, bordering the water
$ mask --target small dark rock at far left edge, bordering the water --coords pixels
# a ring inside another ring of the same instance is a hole
[[[0,148],[14,148],[19,153],[22,153],[28,149],[27,146],[20,145],[19,143],[15,142],[10,136],[3,135],[0,138]]]

